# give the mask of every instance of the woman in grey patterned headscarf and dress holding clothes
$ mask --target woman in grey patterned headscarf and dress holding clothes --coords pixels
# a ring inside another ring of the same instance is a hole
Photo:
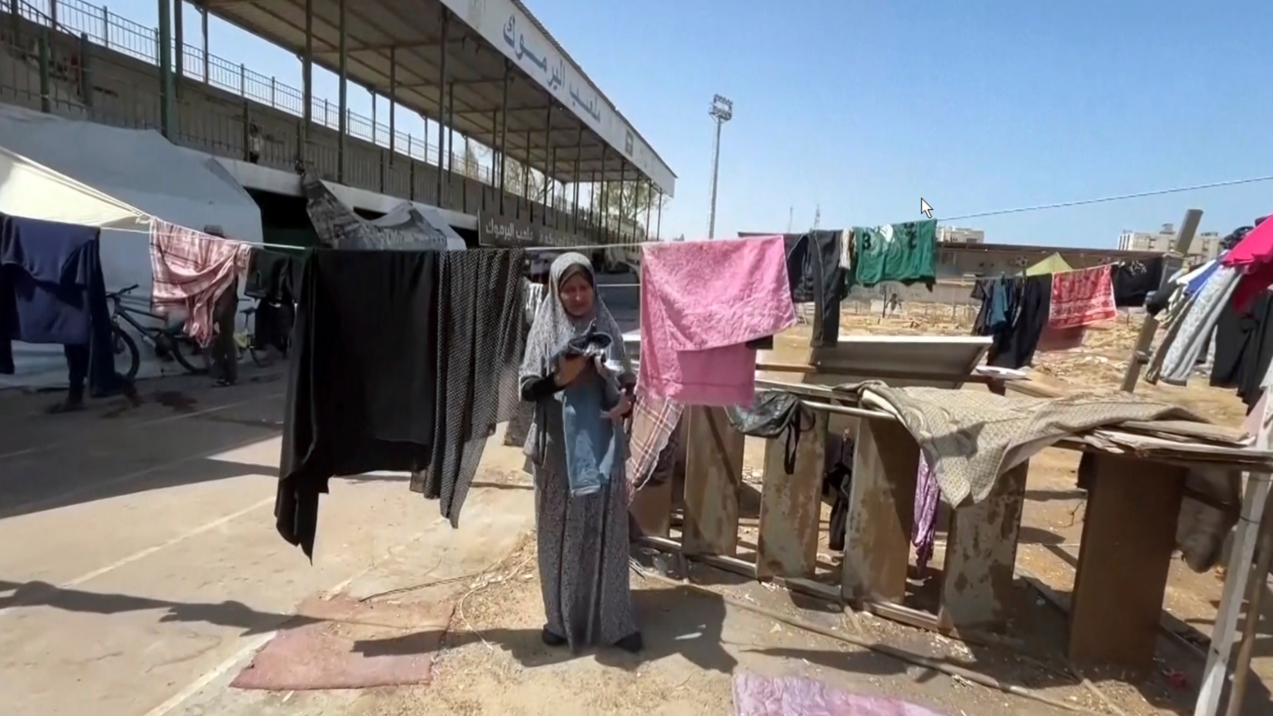
[[[596,334],[608,335],[608,345],[600,345],[605,341]],[[580,344],[589,344],[591,353],[574,355]],[[568,350],[572,345],[575,350]],[[600,400],[607,378],[621,387],[617,403],[608,406]],[[635,382],[622,334],[597,296],[592,264],[580,254],[559,256],[549,270],[547,296],[535,315],[521,371],[522,400],[535,404],[524,452],[535,473],[542,636],[549,646],[642,648],[628,582],[628,441],[621,426]],[[598,399],[600,408],[570,412],[572,396],[580,389],[598,391],[588,397]],[[570,443],[568,422],[575,437]],[[578,436],[598,434],[600,428],[610,452],[594,465],[608,480],[602,476],[582,489],[578,475],[570,474],[572,468],[579,471]]]

